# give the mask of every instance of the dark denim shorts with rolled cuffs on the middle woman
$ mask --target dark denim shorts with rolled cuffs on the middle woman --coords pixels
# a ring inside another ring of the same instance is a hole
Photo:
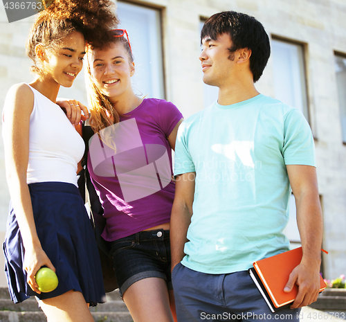
[[[111,242],[120,296],[138,280],[163,278],[172,289],[170,231],[140,231]]]

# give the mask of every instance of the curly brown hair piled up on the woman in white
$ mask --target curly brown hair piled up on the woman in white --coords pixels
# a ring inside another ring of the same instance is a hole
[[[48,2],[48,1],[46,1]],[[33,60],[31,71],[42,73],[37,64],[35,47],[42,44],[54,49],[73,31],[84,35],[86,42],[97,47],[111,40],[109,30],[116,28],[118,17],[111,0],[54,0],[39,12],[26,40],[26,55]]]

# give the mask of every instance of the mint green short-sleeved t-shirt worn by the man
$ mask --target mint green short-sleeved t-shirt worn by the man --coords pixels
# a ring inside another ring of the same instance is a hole
[[[196,172],[196,179],[182,264],[226,274],[288,250],[282,231],[292,164],[316,166],[313,136],[302,113],[278,100],[215,102],[184,120],[174,175]]]

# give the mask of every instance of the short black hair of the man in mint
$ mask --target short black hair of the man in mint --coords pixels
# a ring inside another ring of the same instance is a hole
[[[230,53],[241,48],[251,49],[250,70],[253,73],[253,82],[257,82],[271,55],[269,37],[260,21],[242,12],[216,13],[203,25],[201,42],[206,37],[216,40],[217,36],[223,33],[230,35],[233,42],[233,46],[228,49]]]

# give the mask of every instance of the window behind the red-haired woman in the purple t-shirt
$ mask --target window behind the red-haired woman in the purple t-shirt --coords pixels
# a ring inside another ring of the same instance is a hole
[[[163,51],[161,42],[161,11],[117,1],[118,28],[129,35],[136,72],[132,86],[139,96],[165,98]]]

